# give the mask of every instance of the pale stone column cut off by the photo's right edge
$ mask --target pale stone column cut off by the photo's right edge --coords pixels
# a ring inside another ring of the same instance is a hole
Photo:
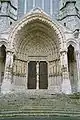
[[[77,92],[80,92],[80,52],[75,51],[76,53],[76,62],[77,62]]]

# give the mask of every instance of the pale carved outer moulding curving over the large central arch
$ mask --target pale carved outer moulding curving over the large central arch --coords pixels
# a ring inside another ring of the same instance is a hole
[[[56,22],[52,21],[49,16],[43,14],[43,13],[34,13],[34,14],[29,14],[25,16],[21,21],[19,21],[15,26],[13,26],[10,30],[10,35],[9,35],[9,44],[8,46],[14,50],[14,43],[16,39],[16,34],[18,33],[19,30],[21,30],[25,25],[29,24],[30,22],[34,22],[35,20],[39,20],[43,24],[45,23],[46,25],[49,25],[56,33],[58,39],[59,39],[59,44],[60,44],[60,51],[62,51],[63,48],[63,43],[65,40],[65,36],[58,24]]]

